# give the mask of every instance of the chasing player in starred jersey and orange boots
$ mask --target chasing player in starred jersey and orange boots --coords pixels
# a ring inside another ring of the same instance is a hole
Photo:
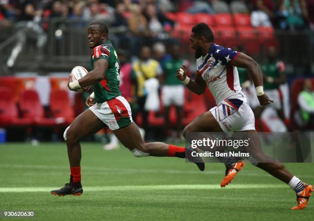
[[[304,209],[313,187],[303,183],[299,178],[292,175],[282,163],[262,152],[259,137],[254,127],[254,114],[241,91],[237,67],[248,70],[256,87],[260,105],[265,106],[272,102],[263,92],[263,75],[259,64],[244,53],[216,45],[213,33],[205,23],[200,23],[192,28],[190,41],[197,59],[195,78],[192,80],[187,77],[187,70],[184,66],[177,70],[176,77],[190,91],[198,95],[203,94],[208,86],[217,106],[189,123],[184,129],[184,136],[188,132],[204,131],[250,132],[251,145],[249,148],[254,153],[255,162],[253,164],[295,190],[298,205],[291,209]],[[244,165],[242,161],[238,162],[236,158],[227,159],[225,164],[226,175],[221,182],[221,187],[230,183]]]

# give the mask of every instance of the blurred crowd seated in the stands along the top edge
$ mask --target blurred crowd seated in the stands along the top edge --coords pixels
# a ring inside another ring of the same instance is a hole
[[[154,36],[173,25],[169,12],[249,13],[253,26],[314,29],[313,0],[1,0],[0,24],[36,17],[102,19],[135,35]]]

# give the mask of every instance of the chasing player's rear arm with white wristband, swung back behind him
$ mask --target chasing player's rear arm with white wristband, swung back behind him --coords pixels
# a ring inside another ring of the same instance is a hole
[[[232,65],[239,68],[246,68],[256,89],[257,90],[262,89],[260,93],[259,91],[257,91],[257,97],[262,106],[266,106],[270,102],[273,102],[263,92],[263,74],[259,67],[259,64],[256,61],[254,61],[251,57],[247,56],[246,54],[241,53],[235,60],[233,60]]]

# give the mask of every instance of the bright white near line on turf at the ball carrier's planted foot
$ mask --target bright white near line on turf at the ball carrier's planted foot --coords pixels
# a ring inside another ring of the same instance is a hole
[[[273,184],[232,184],[227,189],[264,189],[283,188],[286,185]],[[49,192],[57,187],[0,187],[0,192]],[[144,186],[94,186],[83,187],[84,191],[142,191],[142,190],[212,190],[222,189],[218,184],[177,184],[177,185],[144,185]]]

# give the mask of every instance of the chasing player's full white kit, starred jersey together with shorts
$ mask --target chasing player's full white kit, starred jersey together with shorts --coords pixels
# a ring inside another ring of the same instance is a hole
[[[254,114],[241,91],[237,67],[232,65],[239,54],[213,43],[208,54],[197,59],[198,72],[217,104],[209,111],[224,132],[255,129]]]

